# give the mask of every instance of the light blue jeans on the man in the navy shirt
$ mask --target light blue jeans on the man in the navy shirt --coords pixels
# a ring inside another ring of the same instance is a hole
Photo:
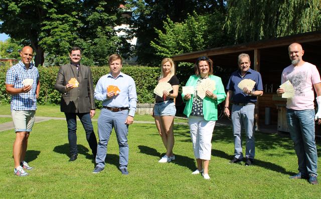
[[[241,130],[244,127],[246,133],[245,156],[254,159],[255,156],[255,138],[254,138],[254,108],[255,104],[232,106],[232,124],[234,134],[234,157],[243,158]]]

